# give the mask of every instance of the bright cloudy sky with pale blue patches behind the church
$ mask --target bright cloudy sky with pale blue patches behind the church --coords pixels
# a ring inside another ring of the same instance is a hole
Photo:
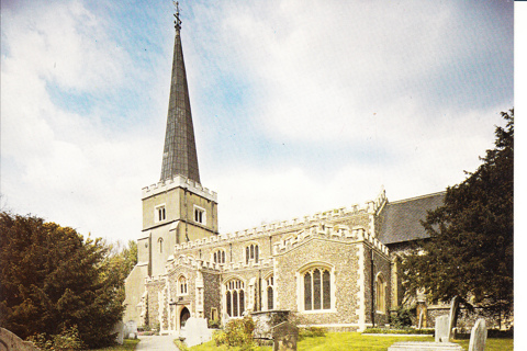
[[[180,1],[221,233],[444,191],[514,106],[513,2]],[[160,177],[173,5],[1,2],[1,206],[141,236]]]

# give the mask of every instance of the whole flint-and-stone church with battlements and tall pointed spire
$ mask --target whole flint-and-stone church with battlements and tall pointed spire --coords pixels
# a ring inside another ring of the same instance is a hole
[[[381,190],[361,205],[220,233],[217,194],[200,179],[180,31],[177,13],[161,174],[142,192],[123,320],[160,333],[191,316],[280,312],[335,331],[386,324],[403,299],[397,257],[426,238],[419,220],[445,193],[390,202]]]

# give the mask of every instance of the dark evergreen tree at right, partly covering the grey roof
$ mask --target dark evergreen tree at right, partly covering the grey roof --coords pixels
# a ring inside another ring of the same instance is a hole
[[[431,299],[455,295],[501,316],[513,312],[514,110],[502,112],[495,147],[460,184],[448,188],[445,205],[423,223],[430,238],[405,258],[405,287]]]

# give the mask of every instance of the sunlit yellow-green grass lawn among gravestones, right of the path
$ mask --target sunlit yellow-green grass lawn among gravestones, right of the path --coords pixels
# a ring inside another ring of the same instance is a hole
[[[434,337],[377,337],[362,336],[358,332],[328,332],[326,337],[306,338],[299,342],[299,351],[386,351],[397,341],[434,341]],[[456,340],[464,350],[469,349],[469,340]],[[513,351],[513,339],[487,339],[485,351]],[[225,346],[216,348],[213,341],[190,348],[191,351],[235,351]],[[271,347],[260,348],[260,351],[270,351]]]

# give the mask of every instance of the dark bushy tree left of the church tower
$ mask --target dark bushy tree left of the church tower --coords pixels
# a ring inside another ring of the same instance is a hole
[[[72,228],[0,213],[0,326],[24,339],[77,326],[87,346],[112,343],[122,282],[108,252]]]

